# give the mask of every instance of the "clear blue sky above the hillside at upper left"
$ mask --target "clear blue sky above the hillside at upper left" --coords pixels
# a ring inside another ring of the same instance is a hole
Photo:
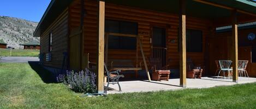
[[[0,16],[39,22],[51,0],[0,0]]]

